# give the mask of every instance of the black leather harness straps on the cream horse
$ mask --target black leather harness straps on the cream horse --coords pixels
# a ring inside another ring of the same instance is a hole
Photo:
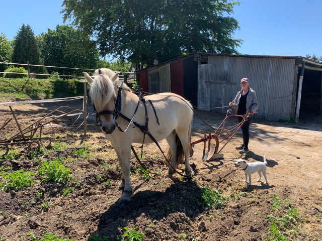
[[[100,74],[102,74],[102,73],[100,72],[100,70],[99,70],[99,73],[100,73]],[[119,131],[120,131],[120,132],[126,132],[130,125],[132,125],[132,127],[133,127],[133,128],[134,128],[134,127],[139,128],[139,129],[143,132],[143,143],[142,143],[142,146],[140,147],[140,148],[141,148],[141,156],[142,156],[142,153],[143,153],[143,144],[144,144],[144,140],[145,140],[145,135],[148,135],[148,136],[151,138],[151,140],[155,143],[155,145],[158,147],[158,149],[161,151],[161,153],[163,154],[164,158],[167,160],[167,162],[169,163],[169,165],[170,165],[170,166],[175,170],[175,172],[177,172],[177,173],[178,173],[179,175],[181,175],[182,177],[192,178],[192,176],[194,175],[194,169],[196,168],[196,165],[193,163],[193,165],[192,165],[193,170],[192,170],[192,172],[191,172],[191,174],[190,174],[189,176],[184,175],[184,174],[182,174],[182,173],[178,172],[178,171],[176,170],[176,168],[174,168],[174,167],[171,165],[170,161],[169,161],[169,160],[168,160],[168,158],[166,157],[166,155],[165,155],[165,153],[163,152],[162,148],[159,146],[159,144],[157,143],[157,141],[155,140],[155,138],[154,138],[154,137],[152,136],[152,134],[149,132],[149,130],[148,130],[148,120],[149,120],[149,119],[148,119],[148,116],[147,116],[146,99],[144,98],[144,96],[143,96],[143,94],[141,93],[141,91],[140,91],[140,90],[138,90],[138,97],[139,97],[139,100],[138,100],[138,103],[137,103],[137,105],[136,105],[136,108],[135,108],[135,111],[134,111],[134,113],[133,113],[132,118],[130,119],[129,117],[127,117],[126,115],[124,115],[124,114],[121,112],[121,106],[122,106],[122,101],[121,101],[121,99],[122,99],[122,90],[123,90],[122,85],[123,85],[123,82],[121,83],[121,86],[118,86],[118,89],[119,89],[119,90],[118,90],[118,93],[117,93],[117,97],[116,97],[116,99],[114,98],[114,106],[115,106],[115,107],[114,107],[114,110],[103,110],[103,111],[97,112],[97,111],[96,111],[96,108],[95,108],[95,105],[93,104],[94,112],[96,113],[96,121],[97,121],[97,123],[98,123],[97,125],[98,125],[98,126],[100,126],[100,127],[102,127],[102,124],[101,124],[101,122],[100,122],[100,116],[101,116],[102,114],[112,114],[112,115],[113,115],[113,118],[114,118],[115,120],[117,119],[117,117],[118,117],[118,116],[122,117],[123,119],[125,119],[126,121],[128,121],[128,122],[129,122],[129,124],[128,124],[128,126],[126,127],[126,129],[123,131],[123,130],[121,129],[121,127],[117,124],[117,122],[115,122],[115,125],[116,125],[116,127],[119,129]],[[143,102],[144,109],[145,109],[145,126],[142,126],[142,125],[140,125],[140,124],[138,124],[138,123],[136,123],[136,122],[133,122],[133,119],[134,119],[134,116],[135,116],[135,114],[136,114],[136,112],[137,112],[137,109],[138,109],[138,106],[139,106],[140,100]],[[159,124],[158,117],[157,117],[157,115],[156,115],[155,108],[154,108],[154,106],[153,106],[153,104],[152,104],[152,101],[151,101],[151,100],[148,100],[148,101],[150,102],[150,104],[151,104],[151,106],[152,106],[152,109],[153,109],[154,115],[155,115],[155,117],[156,117],[156,122],[157,122],[157,124],[158,124],[158,125],[160,125],[160,124]],[[134,150],[134,148],[133,148],[133,146],[132,146],[132,145],[131,145],[131,149],[132,149],[132,152],[133,152],[134,156],[136,157],[136,159],[137,159],[137,160],[138,160],[138,162],[140,163],[140,165],[141,165],[144,169],[146,169],[146,168],[145,168],[145,166],[144,166],[144,165],[141,163],[141,161],[139,160],[138,156],[136,155],[135,150]]]

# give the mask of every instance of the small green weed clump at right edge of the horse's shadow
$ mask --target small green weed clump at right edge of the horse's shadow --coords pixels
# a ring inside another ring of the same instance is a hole
[[[200,194],[201,205],[205,207],[220,208],[227,201],[227,198],[221,196],[218,190],[212,191],[209,187],[203,187]]]

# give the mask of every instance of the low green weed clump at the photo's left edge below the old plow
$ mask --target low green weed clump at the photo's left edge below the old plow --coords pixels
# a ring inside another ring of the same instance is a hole
[[[21,190],[25,187],[31,186],[34,182],[31,176],[35,175],[32,172],[24,172],[24,170],[18,170],[13,173],[2,172],[0,177],[3,179],[0,182],[0,190]]]

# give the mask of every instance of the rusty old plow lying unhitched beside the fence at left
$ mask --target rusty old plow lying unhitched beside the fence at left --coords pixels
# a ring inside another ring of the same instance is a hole
[[[4,130],[11,121],[13,121],[13,119],[16,122],[18,132],[11,137],[0,140],[0,150],[1,149],[4,150],[4,154],[2,156],[7,155],[9,153],[10,147],[12,146],[27,145],[31,147],[33,144],[36,144],[38,148],[40,148],[40,143],[49,142],[49,144],[47,145],[47,148],[50,148],[51,138],[44,137],[42,135],[43,128],[46,125],[50,124],[51,122],[59,118],[62,118],[66,115],[74,115],[74,114],[79,114],[79,112],[81,113],[84,112],[83,110],[80,110],[80,109],[74,109],[72,111],[66,112],[66,111],[63,111],[62,109],[70,108],[70,107],[60,106],[59,108],[56,108],[55,110],[47,113],[45,116],[38,118],[37,121],[28,125],[26,128],[22,129],[12,107],[9,106],[9,108],[10,108],[10,113],[13,117],[6,119],[3,126],[0,127],[0,134],[1,134],[1,131]],[[56,113],[58,113],[59,115],[54,115]],[[45,121],[47,118],[51,118],[50,121]],[[25,123],[29,123],[29,121]]]

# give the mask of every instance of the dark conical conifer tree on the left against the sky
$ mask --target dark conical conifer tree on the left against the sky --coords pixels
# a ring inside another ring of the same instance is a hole
[[[40,55],[34,31],[29,25],[23,24],[14,38],[12,61],[21,64],[27,64],[29,61],[29,64],[43,65]],[[42,67],[31,66],[30,70],[35,73],[46,73],[45,68]]]

